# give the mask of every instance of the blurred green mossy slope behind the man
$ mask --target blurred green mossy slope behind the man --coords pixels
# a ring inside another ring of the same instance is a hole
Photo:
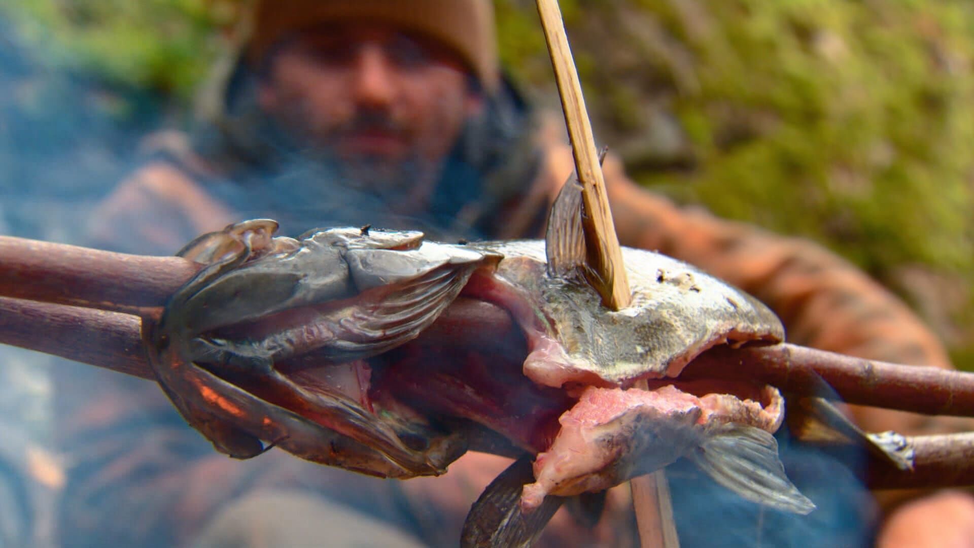
[[[556,104],[534,1],[495,4],[509,71]],[[974,3],[561,5],[598,137],[632,176],[843,254],[974,369]],[[151,98],[178,126],[238,6],[6,0],[0,19],[47,70],[96,80],[119,123]]]

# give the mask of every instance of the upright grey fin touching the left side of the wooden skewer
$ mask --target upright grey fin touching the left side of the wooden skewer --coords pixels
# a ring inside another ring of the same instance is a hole
[[[582,209],[581,183],[573,174],[565,181],[548,215],[547,231],[544,233],[548,276],[570,277],[585,265]]]

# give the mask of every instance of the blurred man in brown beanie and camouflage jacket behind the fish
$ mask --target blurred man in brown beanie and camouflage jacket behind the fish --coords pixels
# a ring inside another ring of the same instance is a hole
[[[157,139],[155,159],[94,215],[96,243],[169,254],[202,232],[256,216],[281,220],[289,235],[366,223],[420,228],[432,238],[541,234],[548,204],[572,172],[571,151],[502,77],[488,0],[266,0],[256,3],[252,23],[208,124],[191,140]],[[755,294],[792,341],[950,367],[903,304],[836,256],[682,211],[636,187],[614,158],[605,174],[623,245],[685,259]],[[469,504],[506,466],[471,454],[444,478],[400,483],[280,451],[232,461],[148,383],[92,372],[60,390],[62,440],[73,462],[60,522],[66,545],[451,545]],[[936,426],[889,411],[855,414],[869,431]],[[676,494],[678,518],[693,515]],[[864,541],[861,500],[835,496],[823,506],[832,513],[822,510],[822,527],[845,514],[858,532],[821,542]],[[934,502],[943,507],[943,499]],[[930,523],[917,504],[919,517],[903,519]],[[957,509],[956,524],[974,523],[965,495],[947,504]],[[632,538],[617,493],[594,530],[562,515],[544,540]]]

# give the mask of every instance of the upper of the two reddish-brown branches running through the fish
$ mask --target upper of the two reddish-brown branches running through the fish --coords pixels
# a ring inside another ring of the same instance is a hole
[[[162,305],[199,268],[200,265],[179,257],[113,254],[0,237],[0,295],[4,296],[83,303],[108,310],[141,308],[140,312],[145,313],[144,307]],[[126,330],[130,328],[134,333],[131,336],[138,336],[128,316],[30,304],[0,299],[0,342],[93,363],[99,358],[100,344],[134,340],[112,336],[128,333]],[[483,302],[476,304],[478,308],[473,313],[461,309],[471,304],[458,301],[457,307],[448,309],[456,313],[445,316],[424,336],[456,344],[469,342],[467,333],[478,333],[478,340],[491,341],[511,329],[510,317],[504,310]],[[50,318],[45,320],[45,315]],[[81,334],[73,339],[65,338],[72,340],[71,344],[49,346],[56,345],[54,339],[59,338],[51,333],[66,333],[49,329],[69,328],[80,330]],[[106,335],[103,340],[98,335],[101,330],[115,335]],[[74,354],[65,355],[71,352]],[[107,355],[122,354],[116,349]],[[121,371],[135,371],[139,367],[131,364],[116,367],[111,360],[94,365]],[[884,364],[792,344],[741,349],[718,347],[697,358],[681,377],[752,379],[794,394],[839,398],[853,404],[974,416],[974,373]]]

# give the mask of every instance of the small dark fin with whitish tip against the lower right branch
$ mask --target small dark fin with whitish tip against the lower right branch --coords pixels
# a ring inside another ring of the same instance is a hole
[[[899,470],[914,469],[914,449],[895,432],[866,434],[843,411],[824,398],[799,398],[789,404],[788,426],[803,442],[851,444]]]

